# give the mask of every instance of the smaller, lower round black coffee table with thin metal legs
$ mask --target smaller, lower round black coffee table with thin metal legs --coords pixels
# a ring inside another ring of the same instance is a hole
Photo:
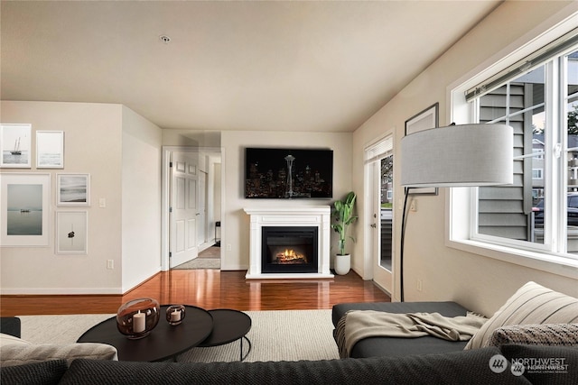
[[[226,308],[209,310],[209,313],[213,317],[213,330],[197,347],[218,346],[240,340],[239,361],[245,360],[251,352],[251,341],[247,338],[247,333],[251,330],[251,318],[241,311]],[[243,340],[249,345],[245,354],[243,354]]]

